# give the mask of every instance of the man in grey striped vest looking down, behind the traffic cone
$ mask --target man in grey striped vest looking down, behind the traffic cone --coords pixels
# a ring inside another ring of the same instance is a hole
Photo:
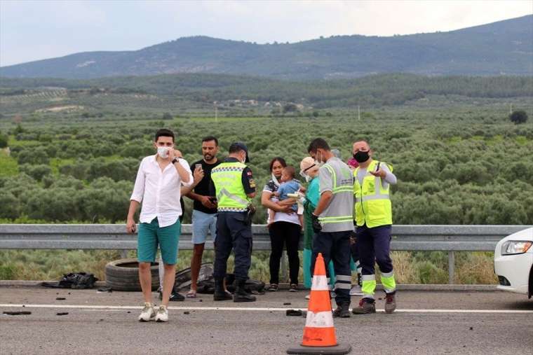
[[[322,253],[325,265],[333,260],[335,268],[335,302],[333,316],[350,316],[350,235],[353,232],[353,176],[351,170],[330,150],[321,138],[314,139],[307,149],[318,165],[320,200],[311,219],[313,220],[313,260],[311,272],[318,253]],[[329,272],[326,270],[326,273]]]

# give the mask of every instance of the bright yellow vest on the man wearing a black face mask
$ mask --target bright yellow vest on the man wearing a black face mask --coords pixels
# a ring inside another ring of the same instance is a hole
[[[357,179],[359,168],[353,172],[355,177],[353,193],[356,197],[356,224],[366,224],[368,228],[392,224],[390,186],[384,188],[382,179],[369,173],[375,171],[378,164],[386,163],[372,160],[367,167],[367,174],[363,178],[363,185]],[[387,164],[387,167],[392,172],[392,166]]]

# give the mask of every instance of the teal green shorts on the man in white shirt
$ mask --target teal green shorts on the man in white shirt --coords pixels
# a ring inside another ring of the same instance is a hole
[[[157,245],[161,249],[163,263],[177,262],[177,243],[180,241],[181,225],[178,219],[173,225],[159,227],[157,218],[150,223],[140,223],[137,235],[137,260],[139,263],[154,263]]]

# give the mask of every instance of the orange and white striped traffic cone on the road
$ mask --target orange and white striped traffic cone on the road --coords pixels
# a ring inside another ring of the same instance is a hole
[[[304,339],[301,346],[288,349],[287,354],[348,354],[350,351],[350,344],[337,344],[324,258],[322,253],[318,253],[307,307]]]

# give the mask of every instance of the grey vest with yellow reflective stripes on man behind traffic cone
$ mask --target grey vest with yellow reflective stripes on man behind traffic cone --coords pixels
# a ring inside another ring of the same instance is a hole
[[[342,195],[347,194],[349,195],[349,200],[352,200],[351,195],[353,194],[353,176],[348,165],[345,167],[340,167],[339,169],[335,169],[328,163],[325,163],[321,169],[328,169],[328,172],[330,172],[333,185],[331,190],[333,199],[332,202],[330,202],[330,207],[327,209],[328,215],[324,216],[323,212],[321,216],[318,217],[318,221],[320,221],[322,225],[330,223],[352,223],[353,213],[351,211],[351,207],[348,209],[337,209],[335,207],[332,208],[332,206],[335,205],[335,198],[340,198]]]

